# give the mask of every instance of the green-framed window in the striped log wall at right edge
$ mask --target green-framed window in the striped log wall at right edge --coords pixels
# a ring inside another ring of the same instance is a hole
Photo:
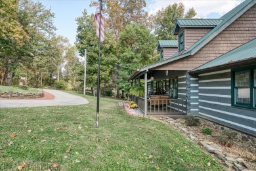
[[[232,105],[255,108],[256,69],[232,71]]]

